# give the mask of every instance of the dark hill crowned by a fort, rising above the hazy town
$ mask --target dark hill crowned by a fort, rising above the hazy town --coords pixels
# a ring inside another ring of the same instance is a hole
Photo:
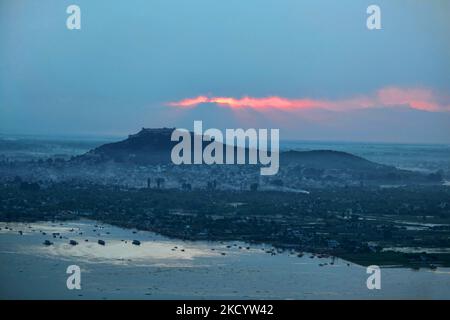
[[[125,140],[104,144],[72,161],[95,165],[111,162],[140,166],[170,165],[171,150],[178,143],[170,140],[173,130],[173,128],[143,128],[138,133],[129,135]],[[203,147],[207,143],[209,142],[204,142]],[[217,177],[211,176],[211,178],[221,179],[226,175],[225,167],[228,166],[223,167],[221,170],[215,171],[218,172]],[[253,167],[257,168],[258,166]],[[181,176],[181,173],[179,174]],[[290,181],[291,184],[298,184],[295,181],[299,179],[338,184],[435,183],[441,179],[438,175],[424,175],[400,170],[350,153],[333,150],[281,152],[280,173],[276,177]]]

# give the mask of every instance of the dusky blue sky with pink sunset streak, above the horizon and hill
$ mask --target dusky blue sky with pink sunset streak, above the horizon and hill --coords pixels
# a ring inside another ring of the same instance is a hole
[[[449,30],[446,0],[0,0],[0,133],[450,143]]]

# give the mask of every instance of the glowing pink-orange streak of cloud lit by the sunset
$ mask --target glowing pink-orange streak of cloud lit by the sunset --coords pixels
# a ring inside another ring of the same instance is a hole
[[[214,103],[233,109],[250,108],[255,110],[302,110],[302,109],[328,109],[347,111],[354,109],[408,106],[413,109],[425,111],[450,111],[450,99],[439,95],[427,88],[399,88],[386,87],[369,95],[353,96],[347,99],[311,99],[311,98],[284,98],[270,97],[215,97],[197,96],[180,101],[169,102],[167,105],[180,108],[194,108],[199,104]]]

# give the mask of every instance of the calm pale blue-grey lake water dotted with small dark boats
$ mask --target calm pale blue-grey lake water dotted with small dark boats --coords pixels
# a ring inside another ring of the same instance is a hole
[[[450,298],[448,268],[383,268],[381,290],[368,290],[364,267],[311,254],[271,255],[268,245],[182,241],[89,220],[0,228],[1,299]],[[81,290],[66,286],[73,264],[81,268]]]

